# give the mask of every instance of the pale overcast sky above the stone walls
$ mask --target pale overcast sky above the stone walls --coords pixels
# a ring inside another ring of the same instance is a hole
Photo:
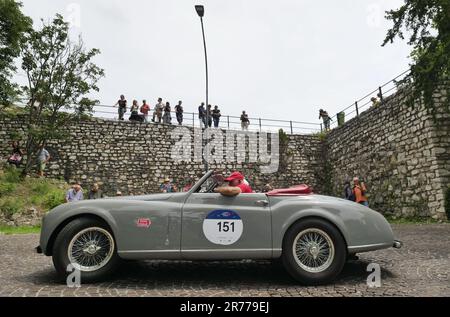
[[[205,5],[210,103],[223,114],[318,122],[408,68],[405,43],[381,47],[384,11],[401,0],[21,0],[36,25],[63,14],[106,77],[114,104],[158,97],[185,111],[204,100],[204,55],[194,5]]]

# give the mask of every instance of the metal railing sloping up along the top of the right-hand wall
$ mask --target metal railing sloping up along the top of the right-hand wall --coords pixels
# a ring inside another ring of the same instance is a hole
[[[365,110],[369,109],[373,103],[372,98],[377,98],[377,101],[382,104],[384,102],[384,99],[386,99],[389,96],[392,96],[398,91],[398,82],[403,79],[410,70],[406,70],[400,75],[396,76],[395,78],[391,79],[387,83],[379,86],[377,89],[369,92],[364,97],[360,98],[359,100],[352,103],[350,106],[345,108],[344,110],[338,112],[334,116],[330,116],[330,128],[334,128],[338,126],[338,116],[343,113],[345,121],[349,121],[353,118],[359,117],[359,115],[364,112]],[[325,128],[325,127],[324,127]]]

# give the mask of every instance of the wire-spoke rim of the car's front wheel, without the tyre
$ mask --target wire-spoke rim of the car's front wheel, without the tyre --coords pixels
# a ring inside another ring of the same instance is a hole
[[[72,238],[67,255],[75,269],[93,272],[111,260],[114,247],[114,239],[107,230],[92,227],[78,232]]]

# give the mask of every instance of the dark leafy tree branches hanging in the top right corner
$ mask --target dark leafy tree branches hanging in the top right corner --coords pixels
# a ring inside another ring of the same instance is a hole
[[[411,100],[422,97],[425,105],[432,109],[433,94],[439,85],[445,84],[449,101],[450,1],[405,0],[399,9],[388,11],[386,18],[394,25],[383,46],[396,37],[404,40],[405,31],[409,36],[408,44],[413,46],[411,72],[404,80],[412,84]]]

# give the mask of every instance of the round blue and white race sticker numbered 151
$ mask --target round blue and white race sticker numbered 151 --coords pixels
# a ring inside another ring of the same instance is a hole
[[[237,212],[214,210],[203,221],[203,233],[214,244],[230,245],[242,236],[244,224]]]

